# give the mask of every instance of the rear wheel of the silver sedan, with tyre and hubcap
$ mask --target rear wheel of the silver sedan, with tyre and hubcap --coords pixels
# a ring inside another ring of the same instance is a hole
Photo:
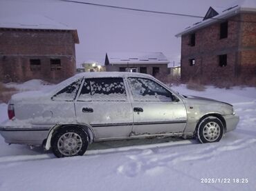
[[[51,139],[51,148],[56,157],[82,156],[88,148],[88,136],[75,125],[56,130]]]

